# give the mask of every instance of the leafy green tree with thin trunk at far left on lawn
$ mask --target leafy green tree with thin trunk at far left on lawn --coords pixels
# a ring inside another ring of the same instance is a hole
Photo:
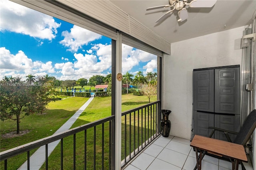
[[[44,77],[34,78],[31,83],[22,81],[21,77],[2,79],[0,86],[0,119],[16,121],[17,134],[20,133],[20,119],[35,112],[42,113],[54,100],[53,85],[46,83]]]

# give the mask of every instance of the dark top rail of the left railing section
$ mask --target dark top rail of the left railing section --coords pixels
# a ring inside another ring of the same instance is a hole
[[[24,145],[18,146],[16,148],[5,150],[3,152],[0,152],[0,161],[6,160],[6,159],[8,159],[10,157],[16,156],[16,155],[21,154],[23,152],[27,152],[27,151],[32,150],[34,148],[38,148],[38,147],[43,146],[45,144],[54,142],[56,140],[60,140],[62,138],[70,136],[72,134],[76,134],[76,133],[81,132],[83,130],[86,130],[88,128],[95,127],[97,125],[100,125],[102,123],[106,123],[106,122],[114,120],[114,119],[115,119],[115,115],[112,115],[112,116],[100,119],[98,121],[87,123],[86,125],[75,127],[75,128],[66,130],[64,132],[60,132],[58,134],[53,134],[51,136],[48,136],[48,137],[36,140],[34,142],[30,142],[28,144],[24,144]]]

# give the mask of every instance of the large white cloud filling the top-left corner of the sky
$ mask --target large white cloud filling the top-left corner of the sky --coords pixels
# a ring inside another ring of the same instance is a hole
[[[9,0],[0,1],[0,11],[2,32],[7,30],[51,41],[56,37],[57,28],[60,27],[53,17]]]

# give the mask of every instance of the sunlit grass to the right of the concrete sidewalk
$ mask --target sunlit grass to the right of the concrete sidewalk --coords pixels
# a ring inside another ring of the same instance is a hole
[[[151,99],[151,101],[156,101],[156,97],[153,97]],[[128,95],[122,95],[122,111],[127,111],[130,109],[134,109],[136,107],[139,107],[141,105],[145,105],[148,104],[148,98],[146,96],[133,96],[132,94],[128,94]],[[145,119],[145,113],[143,111],[140,112],[140,114],[143,114],[143,121]],[[80,115],[80,117],[77,119],[77,121],[72,125],[71,128],[74,127],[78,127],[81,125],[84,125],[86,123],[90,123],[99,119],[102,119],[104,117],[108,117],[111,115],[111,97],[95,97],[92,102],[90,103],[90,105],[85,109],[85,111]],[[129,126],[129,124],[134,125],[134,119],[135,119],[135,127],[138,125],[138,120],[141,123],[141,115],[139,116],[138,119],[138,115],[135,115],[132,113],[131,114],[132,117],[132,121],[129,122],[128,121],[128,117],[127,117],[127,126]],[[125,117],[122,117],[122,159],[124,159],[124,143],[125,143],[125,138],[124,138],[124,125],[125,125]],[[148,119],[148,116],[146,116],[146,120]],[[153,122],[153,121],[152,121]],[[150,127],[150,126],[149,126]],[[153,128],[153,127],[151,127]],[[154,127],[154,129],[156,130],[156,127]],[[138,146],[140,146],[141,143],[143,143],[146,138],[149,138],[150,134],[152,132],[150,132],[150,130],[148,130],[148,124],[146,123],[146,126],[143,125],[143,127],[139,128],[140,133],[143,131],[144,134],[146,132],[145,135],[143,135],[143,139],[140,137],[138,139],[138,129],[136,128],[135,130],[135,145],[133,144],[133,140],[134,140],[134,135],[131,136],[131,141],[132,141],[132,145],[131,145],[131,149],[133,148],[137,148]],[[127,134],[129,133],[129,129],[126,129]],[[149,132],[149,135],[148,135]],[[131,133],[134,133],[134,128],[132,128]],[[93,169],[94,168],[94,131],[93,128],[90,128],[86,131],[86,135],[87,135],[87,140],[86,140],[86,144],[87,144],[87,149],[86,149],[86,168],[87,169]],[[130,140],[130,138],[128,137],[126,140],[126,144],[128,146],[128,141]],[[142,141],[143,140],[143,141]],[[101,169],[102,168],[102,125],[98,125],[96,127],[96,169]],[[140,143],[138,143],[138,141]],[[64,150],[66,152],[66,154],[64,155],[64,159],[65,160],[70,160],[70,161],[66,161],[64,162],[64,167],[65,169],[72,169],[73,166],[73,137],[70,136],[67,139],[64,140]],[[76,134],[76,168],[77,169],[84,169],[84,132],[80,132],[78,134]],[[109,167],[109,162],[108,162],[108,158],[109,158],[109,122],[104,124],[104,169],[108,169]],[[127,152],[126,155],[128,155],[129,152],[129,147],[127,147]],[[51,160],[52,162],[59,162],[59,155],[60,155],[60,144],[56,147],[56,149],[54,150],[54,152],[52,152],[52,154],[49,157],[49,160]],[[78,163],[79,162],[79,163]],[[50,169],[54,169],[55,167],[60,167],[60,164],[58,163],[58,166],[56,166],[56,164],[52,164],[52,165],[48,165]],[[42,170],[45,168],[45,165],[42,166]],[[57,168],[58,169],[58,168]]]

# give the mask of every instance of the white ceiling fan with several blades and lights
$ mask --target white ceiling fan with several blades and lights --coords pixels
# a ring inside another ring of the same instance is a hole
[[[178,22],[182,22],[188,18],[188,12],[185,8],[186,5],[190,8],[211,8],[214,6],[217,0],[192,0],[190,3],[188,3],[188,0],[169,0],[170,5],[161,5],[161,6],[154,6],[147,8],[146,10],[155,10],[159,8],[168,8],[170,7],[171,10],[166,12],[163,16],[161,16],[156,22],[160,22],[164,18],[166,18],[168,15],[172,14],[174,10],[178,10],[178,16],[180,19],[178,19]],[[173,8],[172,8],[173,7]]]

